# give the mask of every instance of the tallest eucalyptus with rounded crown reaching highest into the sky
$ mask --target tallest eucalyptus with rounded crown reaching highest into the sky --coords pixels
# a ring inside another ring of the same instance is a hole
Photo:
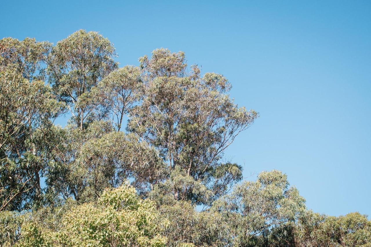
[[[85,121],[101,119],[95,111],[92,87],[118,67],[115,48],[97,32],[79,30],[52,48],[47,59],[50,83],[65,102],[80,129]],[[86,127],[86,126],[85,126]]]

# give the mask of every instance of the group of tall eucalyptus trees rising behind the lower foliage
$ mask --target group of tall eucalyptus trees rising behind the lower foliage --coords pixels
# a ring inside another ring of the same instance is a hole
[[[226,78],[187,72],[183,52],[154,50],[139,67],[118,68],[115,56],[108,39],[83,30],[55,46],[1,40],[1,86],[10,92],[1,95],[0,145],[5,167],[14,167],[4,169],[2,209],[30,208],[46,195],[89,200],[127,178],[144,192],[175,169],[192,182],[172,188],[174,198],[210,204],[206,195],[242,178],[242,167],[221,158],[258,114],[233,103]],[[52,125],[66,112],[65,129]]]

